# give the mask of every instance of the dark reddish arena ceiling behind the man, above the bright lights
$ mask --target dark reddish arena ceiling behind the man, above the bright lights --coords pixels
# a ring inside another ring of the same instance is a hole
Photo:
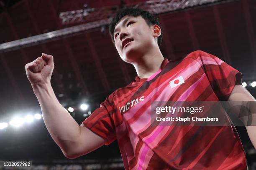
[[[59,18],[61,12],[83,9],[84,4],[89,8],[120,6],[120,0],[0,2],[0,44],[84,24],[86,21],[62,24]],[[137,2],[123,0],[128,6]],[[158,16],[164,30],[161,45],[164,57],[174,60],[194,50],[203,50],[241,71],[243,81],[256,80],[255,0],[228,0]],[[37,112],[40,108],[26,77],[25,64],[40,57],[42,52],[54,56],[51,84],[65,107],[78,107],[82,100],[99,106],[110,92],[128,85],[136,77],[133,66],[118,56],[107,27],[1,51],[0,121],[8,121],[15,114]],[[247,89],[256,96],[253,87]]]

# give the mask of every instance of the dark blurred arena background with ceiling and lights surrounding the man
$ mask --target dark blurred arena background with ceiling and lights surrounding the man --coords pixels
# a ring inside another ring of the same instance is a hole
[[[256,96],[256,0],[0,0],[0,161],[32,161],[31,170],[123,169],[117,142],[65,158],[25,72],[42,52],[53,55],[54,92],[80,125],[111,92],[135,80],[108,35],[109,21],[123,7],[159,17],[164,57],[211,53],[242,72],[243,86]],[[245,128],[236,128],[248,169],[256,170],[256,150]]]

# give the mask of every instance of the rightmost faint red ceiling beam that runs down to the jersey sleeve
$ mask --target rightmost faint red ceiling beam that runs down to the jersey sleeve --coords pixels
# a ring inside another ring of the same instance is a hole
[[[212,10],[213,10],[213,13],[214,13],[214,19],[215,19],[215,23],[216,23],[215,25],[217,27],[217,32],[218,32],[218,37],[219,37],[219,40],[220,40],[220,47],[221,47],[223,59],[229,65],[232,65],[232,62],[231,62],[231,59],[230,59],[230,53],[229,53],[229,49],[228,49],[228,43],[227,43],[227,40],[225,38],[225,33],[224,33],[224,30],[223,30],[223,25],[222,25],[221,20],[220,20],[220,14],[219,14],[217,5],[212,6]]]

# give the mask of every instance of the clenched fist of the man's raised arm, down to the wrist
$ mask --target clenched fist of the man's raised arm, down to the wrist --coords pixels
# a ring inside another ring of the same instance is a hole
[[[42,53],[41,57],[26,64],[25,69],[32,85],[49,83],[54,69],[53,56]]]

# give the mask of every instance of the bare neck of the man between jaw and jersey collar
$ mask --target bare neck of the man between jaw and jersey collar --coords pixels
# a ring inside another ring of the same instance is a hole
[[[146,54],[137,56],[136,58],[139,60],[136,60],[132,64],[140,78],[148,78],[153,75],[161,68],[161,63],[164,60],[159,47],[152,48]]]

